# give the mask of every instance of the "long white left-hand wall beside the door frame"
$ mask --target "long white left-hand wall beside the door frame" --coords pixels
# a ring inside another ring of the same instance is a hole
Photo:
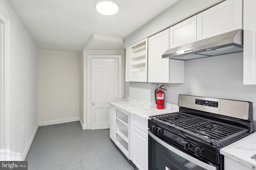
[[[38,128],[38,48],[6,0],[10,20],[10,160],[23,160]]]

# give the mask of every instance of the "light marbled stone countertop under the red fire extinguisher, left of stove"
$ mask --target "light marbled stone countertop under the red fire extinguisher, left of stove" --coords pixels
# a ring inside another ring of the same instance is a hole
[[[168,109],[156,109],[150,108],[152,104],[143,102],[141,100],[134,99],[116,99],[108,102],[110,106],[114,106],[122,111],[126,111],[132,115],[148,120],[149,116],[160,115],[164,113],[171,113],[179,111],[179,107],[176,104],[168,104]]]

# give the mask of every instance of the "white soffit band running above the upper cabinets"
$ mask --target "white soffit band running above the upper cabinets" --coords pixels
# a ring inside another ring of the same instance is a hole
[[[179,0],[164,12],[125,37],[125,47],[193,16],[223,0]]]

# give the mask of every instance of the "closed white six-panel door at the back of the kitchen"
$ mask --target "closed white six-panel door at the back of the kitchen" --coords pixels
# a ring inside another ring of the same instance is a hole
[[[108,129],[109,100],[118,98],[118,59],[92,59],[91,129]]]

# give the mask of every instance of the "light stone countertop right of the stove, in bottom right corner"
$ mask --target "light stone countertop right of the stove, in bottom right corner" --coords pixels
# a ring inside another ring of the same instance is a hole
[[[256,161],[251,158],[256,154],[256,132],[220,149],[220,154],[256,170]]]

